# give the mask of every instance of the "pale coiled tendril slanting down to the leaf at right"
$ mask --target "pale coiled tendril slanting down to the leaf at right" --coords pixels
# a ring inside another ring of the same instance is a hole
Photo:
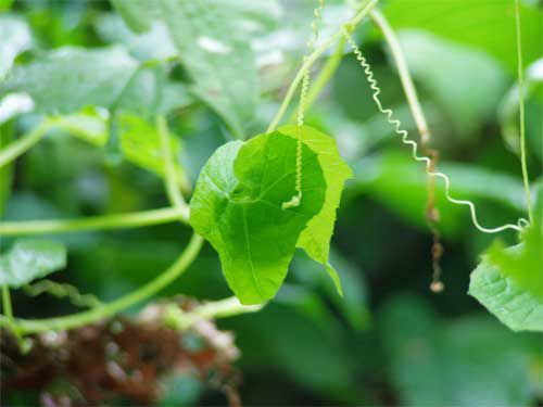
[[[371,97],[372,97],[375,103],[377,104],[377,109],[379,110],[379,112],[381,112],[382,114],[384,114],[387,116],[387,120],[394,127],[395,133],[401,136],[402,142],[406,145],[412,147],[413,158],[415,161],[425,163],[427,173],[429,175],[431,175],[433,177],[439,177],[439,178],[444,180],[444,182],[445,182],[445,198],[447,199],[447,201],[453,203],[453,204],[468,206],[470,209],[470,213],[471,213],[471,220],[472,220],[475,227],[484,233],[498,233],[498,232],[502,232],[502,231],[508,230],[508,229],[521,231],[523,227],[529,225],[526,219],[521,218],[518,220],[517,225],[507,224],[507,225],[500,226],[497,228],[485,228],[485,227],[481,226],[481,224],[479,224],[479,220],[477,219],[477,211],[476,211],[475,204],[471,201],[458,200],[458,199],[455,199],[451,195],[451,179],[449,178],[449,176],[443,174],[443,173],[433,171],[431,169],[431,164],[432,164],[431,160],[427,156],[419,156],[418,155],[417,142],[408,139],[408,132],[406,130],[402,129],[402,123],[399,119],[395,119],[392,117],[394,114],[392,112],[392,110],[383,109],[381,101],[379,99],[379,94],[381,93],[381,89],[379,88],[377,80],[374,78],[374,73],[371,71],[371,66],[368,64],[368,62],[366,61],[366,59],[362,54],[361,49],[354,42],[354,40],[351,37],[351,35],[349,34],[349,30],[346,27],[343,27],[343,35],[345,36],[351,49],[353,50],[353,53],[356,55],[356,60],[358,60],[358,62],[361,63],[361,66],[364,68],[364,73],[365,73],[366,79],[369,84],[369,88],[372,91]]]

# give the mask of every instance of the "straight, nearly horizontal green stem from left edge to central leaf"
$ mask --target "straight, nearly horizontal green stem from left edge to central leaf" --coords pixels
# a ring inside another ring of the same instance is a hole
[[[28,220],[0,222],[0,236],[64,233],[84,230],[138,228],[182,220],[188,222],[188,208],[166,207],[129,214],[102,215],[79,219]]]

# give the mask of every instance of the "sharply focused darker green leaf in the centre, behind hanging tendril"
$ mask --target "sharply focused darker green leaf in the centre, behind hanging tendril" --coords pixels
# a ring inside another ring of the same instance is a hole
[[[303,198],[295,193],[296,141],[279,131],[230,142],[203,167],[190,202],[190,222],[218,252],[223,272],[243,304],[279,290],[307,222],[325,204],[326,179],[317,154],[303,145]]]

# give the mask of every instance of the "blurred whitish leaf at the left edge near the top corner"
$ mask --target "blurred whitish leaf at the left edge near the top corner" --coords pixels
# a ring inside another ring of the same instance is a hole
[[[5,5],[9,8],[9,3]],[[0,12],[2,4],[0,4]],[[30,48],[31,36],[27,23],[13,15],[0,15],[0,84],[11,69],[13,61]]]

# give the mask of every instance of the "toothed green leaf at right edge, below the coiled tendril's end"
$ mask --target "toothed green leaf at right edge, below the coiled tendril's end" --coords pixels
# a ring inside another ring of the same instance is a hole
[[[543,331],[543,229],[528,229],[522,243],[495,242],[471,274],[469,294],[515,331]]]

